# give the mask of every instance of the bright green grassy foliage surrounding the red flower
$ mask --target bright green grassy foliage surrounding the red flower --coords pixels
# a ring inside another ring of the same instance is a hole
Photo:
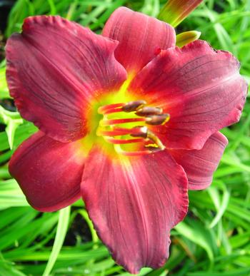
[[[6,38],[26,16],[59,14],[99,33],[114,9],[126,5],[157,16],[165,1],[18,0],[9,15]],[[201,31],[214,48],[231,51],[250,80],[250,1],[207,0],[178,26]],[[9,98],[5,62],[0,66],[0,99]],[[1,101],[1,100],[0,100]],[[115,265],[99,242],[81,201],[56,213],[39,213],[26,203],[8,173],[16,147],[36,131],[19,113],[0,106],[0,275],[129,275]],[[222,132],[229,146],[211,187],[189,193],[184,222],[172,230],[171,257],[159,270],[140,275],[250,275],[250,102],[235,126]],[[10,146],[11,148],[10,149]]]

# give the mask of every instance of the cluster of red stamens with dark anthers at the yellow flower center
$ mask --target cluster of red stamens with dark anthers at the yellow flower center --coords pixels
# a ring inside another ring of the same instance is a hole
[[[163,113],[161,108],[146,106],[146,101],[139,100],[101,106],[98,113],[104,118],[99,121],[96,135],[113,144],[117,153],[136,156],[165,149],[149,129],[149,126],[160,126],[169,121],[169,114]]]

